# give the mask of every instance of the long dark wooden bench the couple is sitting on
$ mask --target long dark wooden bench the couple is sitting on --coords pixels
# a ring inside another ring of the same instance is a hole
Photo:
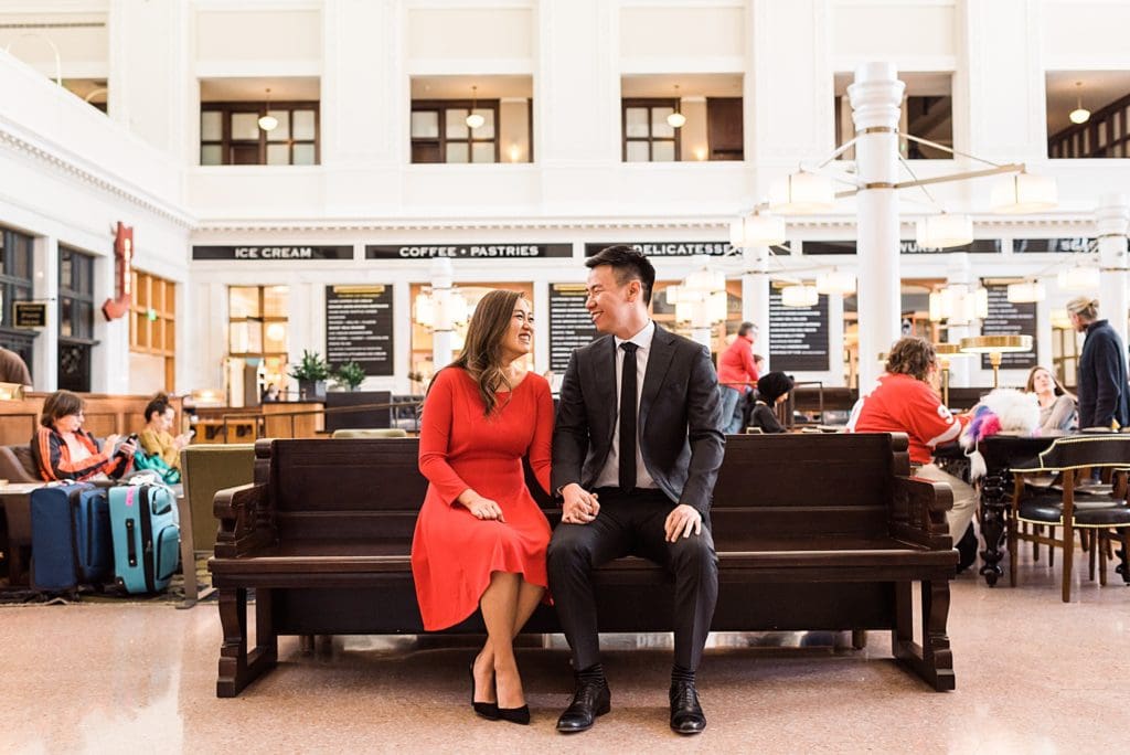
[[[409,564],[426,489],[417,452],[415,439],[255,445],[254,484],[215,501],[218,696],[237,695],[270,669],[280,634],[423,632]],[[953,689],[953,497],[948,486],[909,475],[904,435],[729,437],[712,509],[720,581],[712,628],[890,631],[898,661],[935,689]],[[554,509],[546,514],[559,518]],[[602,631],[670,631],[672,581],[661,569],[621,558],[597,581]],[[249,651],[251,588],[257,642]],[[481,618],[451,631],[483,633]],[[525,627],[559,631],[545,606]]]

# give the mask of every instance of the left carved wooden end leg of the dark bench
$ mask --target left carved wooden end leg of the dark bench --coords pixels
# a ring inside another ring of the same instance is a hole
[[[271,622],[271,591],[255,592],[255,649],[247,652],[247,590],[219,590],[219,622],[224,644],[219,650],[217,697],[235,697],[278,661],[278,635]]]

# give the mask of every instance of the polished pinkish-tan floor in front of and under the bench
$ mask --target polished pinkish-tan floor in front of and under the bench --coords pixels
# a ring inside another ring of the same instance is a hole
[[[215,605],[5,607],[0,752],[1127,752],[1130,588],[1078,566],[1070,605],[1043,564],[1024,563],[1015,590],[958,578],[946,694],[894,665],[887,633],[863,651],[833,635],[714,636],[699,675],[710,726],[692,739],[667,728],[663,635],[611,639],[612,713],[564,737],[559,639],[520,651],[522,728],[471,715],[467,645],[338,637],[303,656],[286,637],[272,674],[217,700]]]

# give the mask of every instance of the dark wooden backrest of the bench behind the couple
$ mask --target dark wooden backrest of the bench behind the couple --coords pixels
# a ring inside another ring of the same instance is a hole
[[[260,441],[255,452],[280,539],[411,539],[427,493],[416,439]],[[715,544],[886,535],[892,475],[909,469],[903,435],[730,436],[714,487]]]

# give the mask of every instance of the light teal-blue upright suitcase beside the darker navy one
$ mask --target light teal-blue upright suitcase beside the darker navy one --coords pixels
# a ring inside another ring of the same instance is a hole
[[[163,485],[110,488],[114,573],[129,592],[168,587],[181,556],[176,496]]]

